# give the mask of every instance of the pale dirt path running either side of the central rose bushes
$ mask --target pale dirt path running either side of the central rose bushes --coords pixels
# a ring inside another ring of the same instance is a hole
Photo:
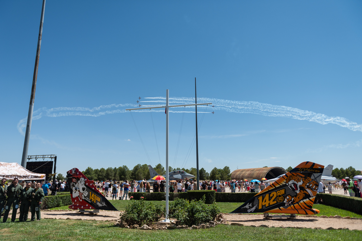
[[[98,214],[84,214],[75,210],[70,211],[42,211],[44,219],[81,219],[81,220],[97,220],[97,221],[113,221],[119,218],[119,211],[104,211],[100,210]],[[19,213],[17,214],[17,218]],[[29,213],[30,218],[30,213]],[[224,218],[228,224],[236,223],[244,226],[260,226],[268,227],[292,227],[292,228],[348,228],[350,230],[362,230],[362,219],[345,219],[345,218],[321,218],[297,216],[296,218],[264,218],[261,215],[255,214],[224,214]],[[232,224],[232,225],[236,225]]]

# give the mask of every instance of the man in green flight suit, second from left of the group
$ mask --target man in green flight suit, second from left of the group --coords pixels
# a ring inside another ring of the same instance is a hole
[[[19,197],[22,192],[22,187],[20,184],[18,184],[18,181],[19,180],[17,178],[14,178],[12,184],[10,184],[10,186],[8,187],[8,192],[7,192],[8,200],[5,205],[5,214],[3,218],[3,223],[5,223],[6,220],[8,219],[11,205],[13,205],[13,215],[11,215],[11,222],[15,222],[16,212],[19,207]]]

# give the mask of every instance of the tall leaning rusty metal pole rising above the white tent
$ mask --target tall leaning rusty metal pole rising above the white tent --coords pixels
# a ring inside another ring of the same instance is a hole
[[[25,167],[25,168],[26,168],[26,161],[27,161],[26,158],[28,157],[30,128],[31,128],[31,119],[33,118],[35,88],[36,88],[36,86],[37,86],[38,66],[39,66],[39,56],[40,56],[40,45],[41,45],[41,43],[42,43],[42,33],[43,33],[44,11],[45,11],[45,0],[43,0],[42,15],[41,15],[41,17],[40,17],[40,28],[39,28],[39,37],[38,37],[38,47],[37,47],[37,55],[36,55],[36,57],[35,57],[35,67],[34,67],[34,75],[33,75],[33,84],[32,84],[32,86],[31,86],[30,105],[29,105],[29,112],[28,112],[28,122],[26,123],[24,149],[23,149],[23,155],[22,155],[22,158],[21,158],[21,166],[23,166],[23,167]]]

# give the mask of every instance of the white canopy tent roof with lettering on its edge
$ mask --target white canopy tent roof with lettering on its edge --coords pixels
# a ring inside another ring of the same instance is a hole
[[[45,180],[45,174],[31,172],[16,162],[0,162],[0,179]]]

